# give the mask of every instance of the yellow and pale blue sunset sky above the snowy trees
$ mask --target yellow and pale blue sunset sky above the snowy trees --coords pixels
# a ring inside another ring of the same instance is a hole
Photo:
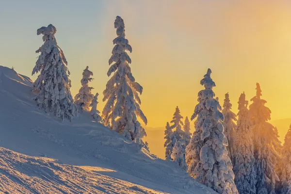
[[[43,44],[36,30],[51,23],[68,61],[72,95],[88,65],[101,112],[116,37],[113,22],[121,16],[133,50],[132,73],[144,87],[141,108],[149,127],[165,126],[177,105],[184,117],[192,115],[207,68],[221,105],[229,92],[237,113],[240,94],[249,100],[259,82],[272,119],[291,118],[291,1],[0,1],[0,65],[35,80],[35,50]]]

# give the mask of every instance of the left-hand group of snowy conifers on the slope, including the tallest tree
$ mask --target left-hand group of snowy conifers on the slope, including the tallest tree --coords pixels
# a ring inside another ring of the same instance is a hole
[[[99,115],[97,97],[92,94],[93,87],[89,82],[93,80],[93,72],[87,66],[82,74],[81,88],[73,99],[69,80],[70,72],[63,50],[55,39],[56,28],[49,24],[37,30],[37,35],[43,34],[44,44],[36,51],[40,53],[32,75],[40,73],[33,83],[32,90],[37,93],[37,106],[46,113],[53,113],[56,117],[70,121],[78,113],[90,112],[92,117],[106,127],[119,132],[130,140],[144,144],[142,138],[146,135],[137,117],[146,124],[147,119],[140,108],[139,95],[143,87],[135,81],[129,64],[131,59],[127,51],[132,52],[128,39],[125,38],[125,25],[120,16],[114,22],[117,37],[113,40],[112,56],[109,59],[110,68],[107,72],[111,76],[103,91],[103,101],[107,101]]]

